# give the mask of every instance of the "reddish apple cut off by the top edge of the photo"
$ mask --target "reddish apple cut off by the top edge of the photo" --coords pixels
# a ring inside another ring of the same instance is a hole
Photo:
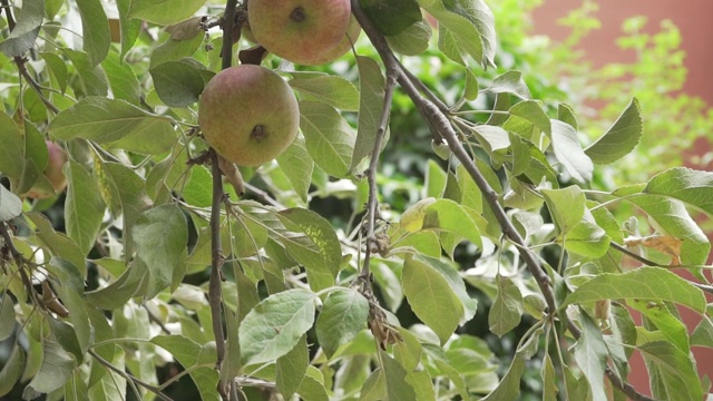
[[[343,38],[349,0],[251,0],[250,27],[270,52],[300,65],[320,63]]]

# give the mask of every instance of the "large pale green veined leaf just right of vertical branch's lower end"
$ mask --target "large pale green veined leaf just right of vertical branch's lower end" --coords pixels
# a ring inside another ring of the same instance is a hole
[[[312,326],[315,297],[309,291],[293,288],[257,304],[241,324],[243,363],[272,362],[290,352]]]

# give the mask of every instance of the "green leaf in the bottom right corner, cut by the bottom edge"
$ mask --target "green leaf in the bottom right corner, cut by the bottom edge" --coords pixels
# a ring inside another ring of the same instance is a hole
[[[644,360],[658,368],[668,398],[691,401],[703,399],[699,373],[687,353],[664,341],[645,343],[638,350]]]

